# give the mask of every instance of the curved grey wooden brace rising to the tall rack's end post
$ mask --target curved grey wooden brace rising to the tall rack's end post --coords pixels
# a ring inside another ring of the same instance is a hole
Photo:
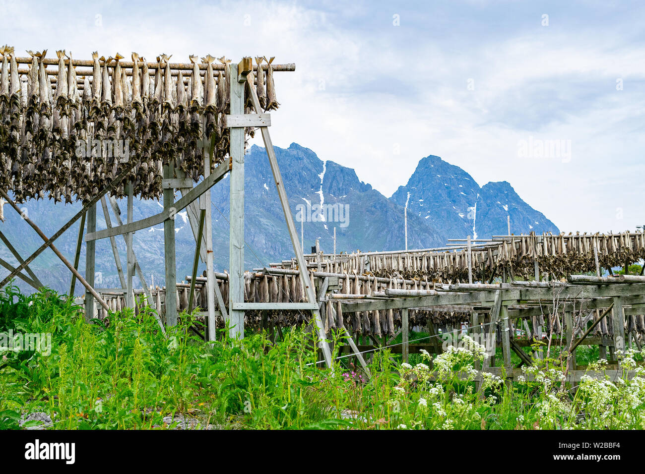
[[[188,204],[195,201],[195,199],[199,199],[199,196],[206,192],[206,190],[212,188],[213,184],[220,181],[224,177],[224,175],[228,173],[228,170],[228,163],[222,163],[217,166],[217,168],[215,168],[214,173],[212,173],[207,178],[204,178],[204,181],[197,184],[197,186],[192,188],[190,192],[186,193],[186,195],[181,197],[181,199],[179,199],[177,202],[170,203],[168,209],[163,210],[163,212],[151,215],[150,217],[146,217],[145,219],[141,219],[140,221],[132,222],[131,224],[120,225],[118,227],[113,227],[112,229],[99,230],[99,232],[88,232],[85,235],[85,241],[89,242],[98,239],[107,239],[108,237],[110,237],[110,235],[120,235],[128,232],[136,232],[137,230],[161,224],[161,222],[170,219],[171,214],[176,214],[177,212],[183,210],[186,206],[188,206]],[[170,191],[172,195],[172,190],[166,191]]]

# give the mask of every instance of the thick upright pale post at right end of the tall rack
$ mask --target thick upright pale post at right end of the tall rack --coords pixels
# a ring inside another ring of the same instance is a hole
[[[244,114],[244,84],[237,81],[237,64],[231,64],[230,113]],[[233,303],[244,302],[244,128],[230,132],[231,201],[229,258],[229,322],[230,337],[244,337],[244,311],[233,310]]]

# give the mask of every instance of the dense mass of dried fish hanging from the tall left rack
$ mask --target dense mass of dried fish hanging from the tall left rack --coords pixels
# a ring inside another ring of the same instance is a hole
[[[213,137],[211,167],[228,153],[230,60],[212,55],[190,56],[192,70],[172,70],[170,55],[159,55],[155,68],[132,53],[132,74],[121,66],[123,56],[92,54],[92,75],[77,77],[72,54],[57,51],[57,76],[46,70],[43,52],[28,54],[28,74],[19,74],[14,48],[0,47],[0,187],[16,201],[86,201],[99,193],[124,167],[138,164],[125,181],[135,195],[159,198],[163,166],[174,160],[195,182],[204,175],[203,137]],[[259,73],[250,73],[264,110],[277,109],[273,58]],[[215,61],[224,70],[215,71]],[[200,64],[206,64],[201,74]],[[129,68],[128,68],[129,69]],[[154,69],[154,76],[152,70]],[[217,73],[217,74],[215,74]],[[253,111],[245,86],[245,113]],[[261,112],[261,111],[259,111]],[[253,128],[247,128],[253,135]],[[124,184],[115,195],[122,197]]]

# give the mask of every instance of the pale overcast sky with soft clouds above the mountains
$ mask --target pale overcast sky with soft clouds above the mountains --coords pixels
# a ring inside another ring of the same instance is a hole
[[[296,72],[275,75],[273,143],[388,197],[432,154],[508,181],[566,232],[645,223],[642,3],[343,3],[0,0],[0,41],[78,59],[275,56]]]

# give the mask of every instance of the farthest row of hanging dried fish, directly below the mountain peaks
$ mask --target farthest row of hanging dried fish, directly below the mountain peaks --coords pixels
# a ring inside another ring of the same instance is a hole
[[[473,281],[507,276],[532,278],[535,261],[541,275],[566,277],[571,273],[595,272],[595,252],[599,266],[610,268],[631,264],[645,258],[645,235],[642,232],[609,234],[517,235],[495,242],[486,248],[471,250]],[[324,272],[370,273],[377,277],[420,278],[430,281],[467,282],[468,250],[452,252],[407,252],[384,255],[352,253],[337,259],[308,255],[308,264],[321,261]],[[285,264],[293,268],[293,264]],[[332,270],[333,269],[333,270]]]

